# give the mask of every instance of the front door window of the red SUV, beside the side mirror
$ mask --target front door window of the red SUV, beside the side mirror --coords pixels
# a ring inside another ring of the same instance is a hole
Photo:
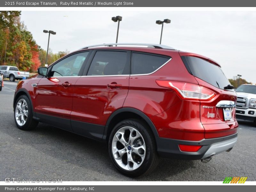
[[[89,52],[76,53],[54,64],[50,76],[78,76],[88,53]]]

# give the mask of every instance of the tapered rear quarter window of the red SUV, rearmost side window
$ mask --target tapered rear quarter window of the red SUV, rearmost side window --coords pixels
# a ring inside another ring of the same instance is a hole
[[[161,55],[132,53],[132,75],[152,73],[169,59],[170,57],[163,57]]]

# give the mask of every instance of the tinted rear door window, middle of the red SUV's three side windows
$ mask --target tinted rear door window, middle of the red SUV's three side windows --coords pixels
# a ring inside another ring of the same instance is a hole
[[[122,75],[127,52],[97,51],[87,76]]]

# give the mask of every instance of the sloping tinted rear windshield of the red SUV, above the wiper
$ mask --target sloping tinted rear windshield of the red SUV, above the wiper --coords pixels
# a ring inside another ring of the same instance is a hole
[[[181,58],[188,72],[199,79],[220,89],[230,84],[219,66],[197,57],[182,56]]]

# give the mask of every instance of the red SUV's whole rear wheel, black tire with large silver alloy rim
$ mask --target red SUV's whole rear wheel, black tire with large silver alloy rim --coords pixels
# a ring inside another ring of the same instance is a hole
[[[159,160],[153,133],[146,123],[137,119],[121,121],[114,127],[108,152],[116,169],[129,177],[148,174]]]

